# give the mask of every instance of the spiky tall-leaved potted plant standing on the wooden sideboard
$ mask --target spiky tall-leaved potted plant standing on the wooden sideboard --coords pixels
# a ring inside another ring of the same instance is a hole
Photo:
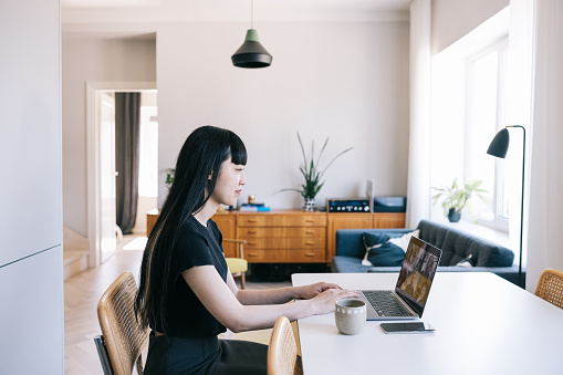
[[[341,152],[338,155],[332,158],[332,160],[324,167],[323,169],[320,168],[321,157],[323,156],[324,149],[326,148],[326,144],[329,143],[329,137],[326,137],[326,140],[323,144],[323,147],[321,148],[321,153],[315,159],[315,143],[314,140],[311,144],[311,154],[305,154],[305,148],[303,147],[303,142],[301,140],[301,136],[298,133],[298,139],[299,145],[301,146],[301,153],[303,154],[303,164],[299,167],[299,170],[303,175],[304,183],[301,185],[299,189],[282,189],[280,191],[296,191],[299,192],[303,199],[304,199],[304,206],[303,209],[306,211],[313,211],[315,208],[315,197],[323,187],[325,180],[323,180],[323,175],[326,171],[326,169],[331,166],[331,164],[334,163],[338,157],[344,155],[345,153],[350,152],[353,147],[346,148],[345,150]]]

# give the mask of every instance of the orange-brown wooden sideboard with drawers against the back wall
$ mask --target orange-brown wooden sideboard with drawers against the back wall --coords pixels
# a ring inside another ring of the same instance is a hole
[[[147,212],[147,233],[158,211]],[[338,229],[405,228],[405,213],[326,213],[302,210],[269,212],[218,211],[213,221],[223,238],[247,240],[250,263],[331,263]],[[234,243],[225,243],[226,257],[238,257]]]

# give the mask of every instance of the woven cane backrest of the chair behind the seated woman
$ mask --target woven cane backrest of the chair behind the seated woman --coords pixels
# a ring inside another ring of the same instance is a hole
[[[131,375],[135,362],[143,374],[140,352],[148,338],[135,319],[137,284],[131,272],[123,272],[97,303],[97,319],[115,375]],[[138,361],[137,361],[138,360]]]

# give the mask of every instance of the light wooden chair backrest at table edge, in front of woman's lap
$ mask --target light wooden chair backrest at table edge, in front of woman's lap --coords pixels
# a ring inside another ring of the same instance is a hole
[[[303,374],[303,368],[295,336],[288,317],[280,316],[275,321],[268,346],[268,375],[296,374]]]

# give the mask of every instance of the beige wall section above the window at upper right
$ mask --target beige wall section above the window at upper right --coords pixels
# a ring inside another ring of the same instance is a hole
[[[452,44],[510,0],[432,0],[432,54]]]

